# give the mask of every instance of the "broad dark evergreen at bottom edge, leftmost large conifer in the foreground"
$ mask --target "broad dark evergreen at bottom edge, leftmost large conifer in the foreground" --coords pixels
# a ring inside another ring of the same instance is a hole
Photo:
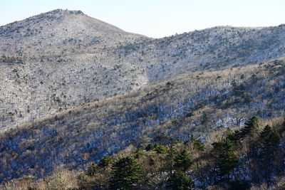
[[[142,179],[142,169],[132,157],[123,157],[112,166],[110,188],[130,189],[133,184]]]

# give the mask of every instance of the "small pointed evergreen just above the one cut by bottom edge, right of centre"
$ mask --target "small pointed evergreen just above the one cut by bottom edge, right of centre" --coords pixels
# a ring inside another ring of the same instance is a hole
[[[192,157],[186,149],[183,149],[180,154],[175,157],[174,166],[181,168],[182,171],[186,171],[193,163]]]

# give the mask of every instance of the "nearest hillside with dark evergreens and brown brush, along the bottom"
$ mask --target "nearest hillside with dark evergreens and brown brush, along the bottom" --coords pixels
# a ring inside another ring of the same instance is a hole
[[[88,162],[83,171],[59,168],[36,180],[26,175],[2,189],[284,189],[285,120],[252,117],[236,130],[195,136],[171,136],[139,149],[132,147]],[[88,155],[81,157],[87,159]]]

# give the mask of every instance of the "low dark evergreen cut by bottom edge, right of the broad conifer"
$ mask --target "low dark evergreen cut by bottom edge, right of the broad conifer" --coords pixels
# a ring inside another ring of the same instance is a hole
[[[186,189],[194,189],[194,183],[189,176],[182,172],[178,172],[168,179],[168,189],[175,190],[186,190]]]

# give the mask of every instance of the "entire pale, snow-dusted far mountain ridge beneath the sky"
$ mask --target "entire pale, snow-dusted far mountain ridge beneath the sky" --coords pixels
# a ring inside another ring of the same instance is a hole
[[[1,26],[0,128],[195,70],[282,58],[284,27],[219,26],[152,39],[67,10]]]

